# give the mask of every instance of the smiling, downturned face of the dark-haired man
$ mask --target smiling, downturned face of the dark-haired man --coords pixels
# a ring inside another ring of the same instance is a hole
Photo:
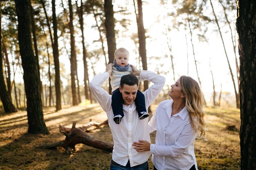
[[[129,106],[130,104],[133,103],[137,95],[137,90],[138,90],[137,84],[133,86],[124,84],[123,89],[121,88],[121,86],[119,86],[119,91],[120,93],[122,93],[122,96],[124,99],[124,105]]]

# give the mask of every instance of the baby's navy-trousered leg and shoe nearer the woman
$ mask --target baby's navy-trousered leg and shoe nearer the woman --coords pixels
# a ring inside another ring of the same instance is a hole
[[[139,119],[145,119],[146,117],[148,117],[146,104],[145,104],[145,96],[139,90],[137,91],[137,96],[134,102],[136,104],[136,110],[139,114]]]

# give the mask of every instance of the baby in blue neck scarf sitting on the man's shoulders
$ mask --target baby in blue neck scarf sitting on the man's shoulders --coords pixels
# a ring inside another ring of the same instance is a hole
[[[120,79],[123,75],[132,74],[133,69],[128,64],[129,52],[125,48],[119,48],[115,51],[114,66],[112,67],[111,75],[111,87],[112,87],[112,110],[114,113],[114,121],[116,124],[120,124],[121,118],[124,117],[123,111],[123,97],[119,91]],[[139,114],[139,119],[145,119],[148,117],[148,113],[145,106],[145,96],[139,90],[134,100],[136,110]]]

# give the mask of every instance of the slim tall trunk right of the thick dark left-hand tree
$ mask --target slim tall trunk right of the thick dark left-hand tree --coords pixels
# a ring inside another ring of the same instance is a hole
[[[60,63],[58,60],[58,35],[57,35],[57,19],[56,19],[56,12],[55,12],[55,0],[52,0],[52,24],[53,24],[53,36],[54,36],[52,51],[53,51],[54,68],[55,68],[56,110],[61,110],[61,76],[60,76]],[[52,32],[50,32],[50,34],[52,34]]]

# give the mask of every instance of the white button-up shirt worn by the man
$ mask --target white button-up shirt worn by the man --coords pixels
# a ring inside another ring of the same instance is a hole
[[[132,147],[132,143],[134,141],[146,140],[150,142],[148,133],[148,117],[142,120],[139,119],[134,102],[129,106],[123,104],[124,117],[120,124],[115,124],[113,121],[114,114],[111,107],[111,95],[101,88],[101,85],[109,76],[110,75],[107,72],[96,75],[90,82],[89,86],[92,94],[97,99],[103,110],[107,113],[108,124],[114,141],[112,159],[122,166],[126,166],[128,160],[130,160],[131,167],[137,166],[146,162],[151,155],[150,151],[137,152]],[[165,84],[165,78],[152,71],[143,70],[139,77],[147,79],[153,83],[153,85],[143,93],[145,96],[146,108],[148,109],[160,91],[162,91]]]

